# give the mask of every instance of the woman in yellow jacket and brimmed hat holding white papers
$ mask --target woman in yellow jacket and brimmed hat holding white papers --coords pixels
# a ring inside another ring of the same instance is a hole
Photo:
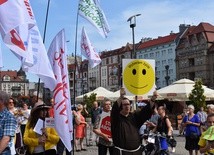
[[[54,128],[45,127],[44,123],[41,130],[35,132],[35,126],[38,121],[45,121],[49,117],[48,110],[50,106],[46,106],[42,101],[35,103],[29,120],[26,124],[24,133],[24,143],[28,146],[32,155],[56,155],[56,145],[59,136]],[[41,132],[41,133],[40,133]]]

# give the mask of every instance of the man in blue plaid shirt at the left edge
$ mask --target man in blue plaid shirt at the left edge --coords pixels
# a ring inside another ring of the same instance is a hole
[[[9,97],[0,91],[0,154],[11,155],[10,147],[17,127],[15,117],[7,110]]]

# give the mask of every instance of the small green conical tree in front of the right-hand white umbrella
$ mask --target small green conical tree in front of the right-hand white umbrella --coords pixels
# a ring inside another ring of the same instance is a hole
[[[194,105],[195,111],[198,111],[200,107],[205,107],[206,96],[204,95],[204,89],[202,87],[202,81],[197,80],[193,86],[193,90],[189,95],[190,104]]]

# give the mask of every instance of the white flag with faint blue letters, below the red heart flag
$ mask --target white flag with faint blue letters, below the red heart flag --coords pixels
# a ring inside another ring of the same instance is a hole
[[[52,91],[56,86],[56,80],[37,26],[30,29],[29,39],[28,48],[32,48],[33,66],[22,64],[22,68],[26,72],[36,74],[44,82],[45,87]]]

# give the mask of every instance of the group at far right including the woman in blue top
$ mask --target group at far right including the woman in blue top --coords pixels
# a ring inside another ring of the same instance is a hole
[[[214,153],[214,132],[209,133],[210,127],[214,126],[214,105],[208,104],[195,113],[195,107],[189,105],[184,110],[180,133],[185,135],[185,149],[189,155],[213,154]],[[210,135],[210,136],[209,136]]]

